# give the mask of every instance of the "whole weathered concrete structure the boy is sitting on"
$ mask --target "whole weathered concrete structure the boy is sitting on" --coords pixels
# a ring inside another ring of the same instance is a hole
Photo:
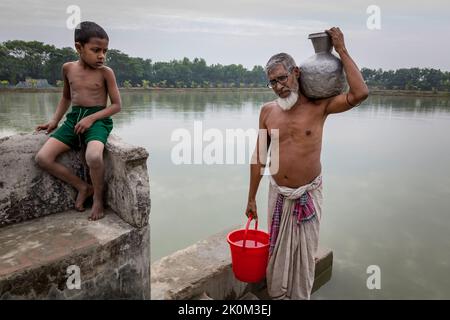
[[[106,217],[88,221],[76,190],[41,170],[43,133],[0,138],[0,299],[149,299],[148,152],[110,135]],[[58,161],[86,181],[83,154]]]

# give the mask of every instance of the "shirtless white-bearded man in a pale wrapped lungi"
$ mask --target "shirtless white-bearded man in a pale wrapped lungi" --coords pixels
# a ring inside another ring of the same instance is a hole
[[[322,205],[320,151],[325,119],[344,112],[368,96],[358,67],[348,54],[339,28],[327,30],[339,54],[349,84],[348,93],[311,101],[299,91],[301,70],[291,56],[274,55],[266,65],[269,87],[278,99],[265,104],[259,128],[270,134],[279,130],[278,171],[271,171],[268,224],[270,258],[267,286],[273,299],[309,299],[314,282],[314,257],[318,247]],[[268,145],[270,136],[268,136]],[[261,181],[263,159],[250,168],[246,215],[257,218],[256,192]],[[276,153],[276,152],[275,152]]]

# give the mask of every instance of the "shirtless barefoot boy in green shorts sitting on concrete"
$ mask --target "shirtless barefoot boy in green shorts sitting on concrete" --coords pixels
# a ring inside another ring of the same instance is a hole
[[[55,177],[78,190],[75,209],[84,211],[84,202],[93,196],[89,220],[103,217],[103,149],[112,130],[111,115],[120,111],[121,101],[114,72],[104,65],[109,38],[105,30],[94,22],[81,22],[75,29],[75,48],[78,61],[62,67],[64,89],[53,119],[36,130],[49,134],[57,126],[72,102],[66,121],[42,146],[36,162]],[[106,108],[107,98],[111,105]],[[86,144],[86,163],[92,186],[81,180],[68,168],[56,162],[63,152]]]

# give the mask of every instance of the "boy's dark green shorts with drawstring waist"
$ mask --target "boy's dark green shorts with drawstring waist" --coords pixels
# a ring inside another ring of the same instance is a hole
[[[89,141],[101,141],[106,144],[109,133],[113,128],[111,117],[99,119],[84,133],[77,135],[75,133],[75,125],[81,119],[96,113],[105,107],[80,107],[72,106],[72,110],[67,114],[64,123],[50,137],[58,139],[62,143],[68,145],[72,149],[80,149],[82,144],[87,145]]]

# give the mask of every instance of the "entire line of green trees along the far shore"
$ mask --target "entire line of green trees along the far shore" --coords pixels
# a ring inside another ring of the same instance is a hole
[[[39,41],[5,41],[0,43],[0,85],[15,85],[31,78],[46,79],[51,85],[61,86],[62,64],[77,59],[76,51],[70,47],[56,48]],[[202,58],[153,62],[111,49],[107,65],[114,70],[122,87],[233,88],[264,87],[267,83],[262,66],[248,70],[241,64],[207,65]],[[447,71],[363,68],[361,72],[370,88],[450,91],[450,72]]]

